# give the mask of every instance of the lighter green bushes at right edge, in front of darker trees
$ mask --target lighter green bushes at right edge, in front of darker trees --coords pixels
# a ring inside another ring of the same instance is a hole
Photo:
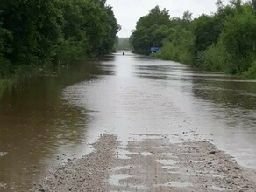
[[[196,65],[208,70],[254,77],[256,58],[256,17],[242,7],[233,17],[225,20],[216,45],[197,52]]]

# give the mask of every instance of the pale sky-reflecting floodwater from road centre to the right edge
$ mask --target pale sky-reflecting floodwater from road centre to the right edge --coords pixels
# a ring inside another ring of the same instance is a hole
[[[64,90],[69,103],[93,112],[90,135],[116,133],[125,142],[131,133],[188,132],[184,138],[208,139],[256,168],[255,80],[132,54],[101,65],[111,75]]]

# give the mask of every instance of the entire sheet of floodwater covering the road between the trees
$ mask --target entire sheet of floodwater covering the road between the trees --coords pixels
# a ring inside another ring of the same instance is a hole
[[[0,190],[28,191],[43,173],[88,154],[103,133],[207,140],[256,168],[256,81],[127,52],[27,79],[0,99]],[[124,154],[125,155],[125,154]]]

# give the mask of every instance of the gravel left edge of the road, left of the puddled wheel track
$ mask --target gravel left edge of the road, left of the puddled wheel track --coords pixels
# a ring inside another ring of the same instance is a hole
[[[117,149],[117,136],[103,134],[92,145],[95,150],[82,159],[53,168],[34,191],[103,191]]]

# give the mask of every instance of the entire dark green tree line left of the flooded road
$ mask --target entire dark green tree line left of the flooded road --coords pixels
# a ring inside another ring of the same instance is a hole
[[[106,0],[0,1],[0,78],[102,55],[120,28]]]

